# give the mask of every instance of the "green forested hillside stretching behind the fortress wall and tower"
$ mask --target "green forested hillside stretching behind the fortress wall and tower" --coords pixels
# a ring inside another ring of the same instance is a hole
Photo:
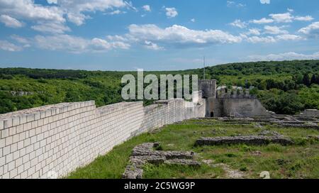
[[[121,77],[136,72],[84,70],[0,69],[0,114],[60,102],[95,100],[97,106],[121,99]],[[203,69],[160,74],[197,74]],[[296,114],[319,109],[319,60],[245,62],[206,68],[206,79],[218,84],[254,86],[254,93],[270,111]],[[247,82],[247,84],[246,84]]]

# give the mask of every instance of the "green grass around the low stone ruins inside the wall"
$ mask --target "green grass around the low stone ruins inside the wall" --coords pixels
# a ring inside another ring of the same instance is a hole
[[[207,124],[209,123],[209,124]],[[276,128],[265,126],[263,129],[276,131],[290,137],[295,145],[282,146],[269,144],[223,145],[194,147],[201,136],[245,136],[257,135],[262,128],[252,125],[223,124],[216,120],[191,120],[165,126],[158,132],[145,133],[113,148],[107,155],[72,172],[68,178],[114,179],[121,178],[130,153],[135,145],[146,142],[159,142],[163,150],[191,150],[196,160],[211,160],[225,163],[233,170],[245,172],[247,178],[259,178],[262,171],[269,171],[272,178],[319,178],[319,141],[308,136],[319,136],[319,131],[303,128]],[[220,167],[203,164],[201,167],[176,165],[145,165],[144,178],[227,178]]]

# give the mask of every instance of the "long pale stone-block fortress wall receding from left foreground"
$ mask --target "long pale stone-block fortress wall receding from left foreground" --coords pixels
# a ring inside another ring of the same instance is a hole
[[[123,102],[64,103],[0,115],[0,179],[67,175],[114,146],[152,128],[204,117],[198,104],[172,99],[144,107]]]

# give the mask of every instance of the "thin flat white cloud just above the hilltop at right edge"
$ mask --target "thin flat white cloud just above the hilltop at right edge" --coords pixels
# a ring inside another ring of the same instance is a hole
[[[247,59],[250,61],[315,60],[319,59],[319,53],[305,55],[291,52],[269,55],[250,55]]]

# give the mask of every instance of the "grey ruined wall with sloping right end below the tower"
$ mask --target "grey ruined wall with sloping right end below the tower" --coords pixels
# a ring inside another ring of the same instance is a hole
[[[213,116],[254,117],[271,116],[258,99],[212,99]]]

